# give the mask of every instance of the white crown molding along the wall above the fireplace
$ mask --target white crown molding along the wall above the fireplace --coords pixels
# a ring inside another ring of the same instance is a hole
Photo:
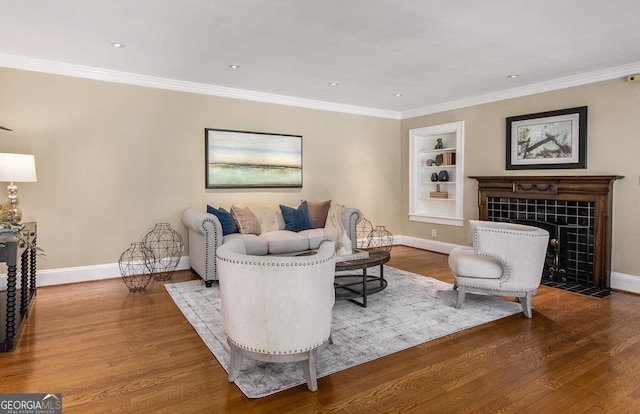
[[[400,113],[400,119],[415,118],[417,116],[434,114],[437,112],[450,111],[453,109],[465,108],[469,106],[482,105],[491,102],[503,101],[505,99],[519,98],[522,96],[534,95],[537,93],[555,91],[558,89],[571,88],[573,86],[586,85],[589,83],[607,81],[615,78],[626,77],[633,73],[640,72],[640,62],[615,66],[603,70],[567,76],[565,78],[554,79],[546,82],[534,83],[520,88],[507,89],[504,91],[478,95],[442,104],[425,106],[411,109]]]

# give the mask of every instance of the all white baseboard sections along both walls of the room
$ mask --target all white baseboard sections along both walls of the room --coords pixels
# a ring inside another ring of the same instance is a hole
[[[393,236],[393,244],[430,250],[449,254],[457,244],[444,243],[436,240],[421,239],[412,236]],[[182,256],[176,270],[189,269],[189,256]],[[107,263],[94,266],[78,266],[64,269],[49,269],[38,271],[38,286],[63,285],[67,283],[90,282],[93,280],[112,279],[120,277],[118,263]],[[7,288],[7,275],[0,274],[0,290]],[[611,288],[630,293],[640,294],[640,275],[628,275],[611,272]]]

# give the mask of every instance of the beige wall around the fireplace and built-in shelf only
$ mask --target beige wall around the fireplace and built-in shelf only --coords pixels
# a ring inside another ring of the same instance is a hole
[[[588,106],[587,169],[505,170],[505,118],[555,109]],[[614,174],[626,176],[614,185],[612,270],[640,275],[640,84],[623,79],[594,83],[528,97],[509,99],[402,121],[402,234],[466,243],[461,227],[408,220],[408,131],[465,121],[465,175]],[[465,180],[464,217],[478,217],[477,182]]]

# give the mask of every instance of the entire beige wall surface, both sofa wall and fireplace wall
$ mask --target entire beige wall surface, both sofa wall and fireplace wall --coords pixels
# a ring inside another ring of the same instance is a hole
[[[394,234],[464,244],[464,228],[410,222],[408,130],[465,121],[465,175],[620,174],[613,270],[640,275],[640,85],[612,80],[402,121],[0,69],[0,152],[36,156],[37,183],[19,184],[37,220],[40,269],[114,263],[153,225],[180,223],[207,203],[296,206],[333,199]],[[587,105],[588,168],[506,172],[505,118]],[[204,128],[303,135],[302,189],[206,190]],[[477,217],[465,181],[464,217]],[[4,199],[4,185],[0,186]]]

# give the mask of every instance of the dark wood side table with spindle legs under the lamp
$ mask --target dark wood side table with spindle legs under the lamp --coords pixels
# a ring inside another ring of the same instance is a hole
[[[28,232],[35,244],[36,223],[23,224],[23,231]],[[0,243],[3,245],[0,247],[0,262],[7,264],[7,290],[0,292],[0,352],[7,352],[15,350],[20,328],[29,316],[29,305],[36,294],[36,251],[27,249],[11,233],[0,233]]]

